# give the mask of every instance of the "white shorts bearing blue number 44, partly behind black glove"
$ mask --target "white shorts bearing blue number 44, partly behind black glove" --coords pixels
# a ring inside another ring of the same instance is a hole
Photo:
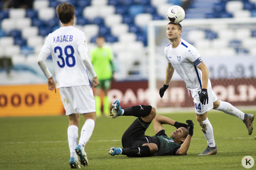
[[[199,99],[199,93],[200,91],[191,91],[191,95],[194,99],[195,103],[195,111],[197,114],[203,114],[205,112],[208,112],[213,108],[213,102],[218,100],[216,94],[214,91],[211,89],[211,81],[208,79],[208,87],[207,87],[207,92],[208,92],[208,104],[201,104],[200,99]]]

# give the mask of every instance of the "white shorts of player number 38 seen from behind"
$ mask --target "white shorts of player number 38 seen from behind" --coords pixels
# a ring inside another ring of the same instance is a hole
[[[59,89],[66,115],[95,112],[95,99],[90,85]]]

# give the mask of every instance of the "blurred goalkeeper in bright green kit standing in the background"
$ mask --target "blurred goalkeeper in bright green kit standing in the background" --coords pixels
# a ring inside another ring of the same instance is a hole
[[[113,53],[110,47],[104,46],[105,38],[98,36],[96,39],[97,47],[90,51],[91,63],[99,80],[99,86],[94,89],[94,97],[96,104],[96,116],[101,113],[101,90],[104,92],[103,112],[108,115],[110,112],[110,102],[107,92],[111,87],[115,67],[113,64]]]

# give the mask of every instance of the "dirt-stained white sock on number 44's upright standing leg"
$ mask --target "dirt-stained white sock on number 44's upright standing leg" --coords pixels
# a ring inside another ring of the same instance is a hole
[[[213,128],[208,118],[206,118],[206,120],[204,121],[199,122],[199,125],[201,126],[201,130],[203,131],[203,134],[207,140],[208,146],[215,147]]]

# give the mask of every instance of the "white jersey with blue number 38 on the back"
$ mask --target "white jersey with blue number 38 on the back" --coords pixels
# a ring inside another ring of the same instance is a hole
[[[83,31],[73,26],[60,27],[47,36],[41,51],[52,55],[57,88],[90,85],[80,57],[80,53],[88,52]]]

